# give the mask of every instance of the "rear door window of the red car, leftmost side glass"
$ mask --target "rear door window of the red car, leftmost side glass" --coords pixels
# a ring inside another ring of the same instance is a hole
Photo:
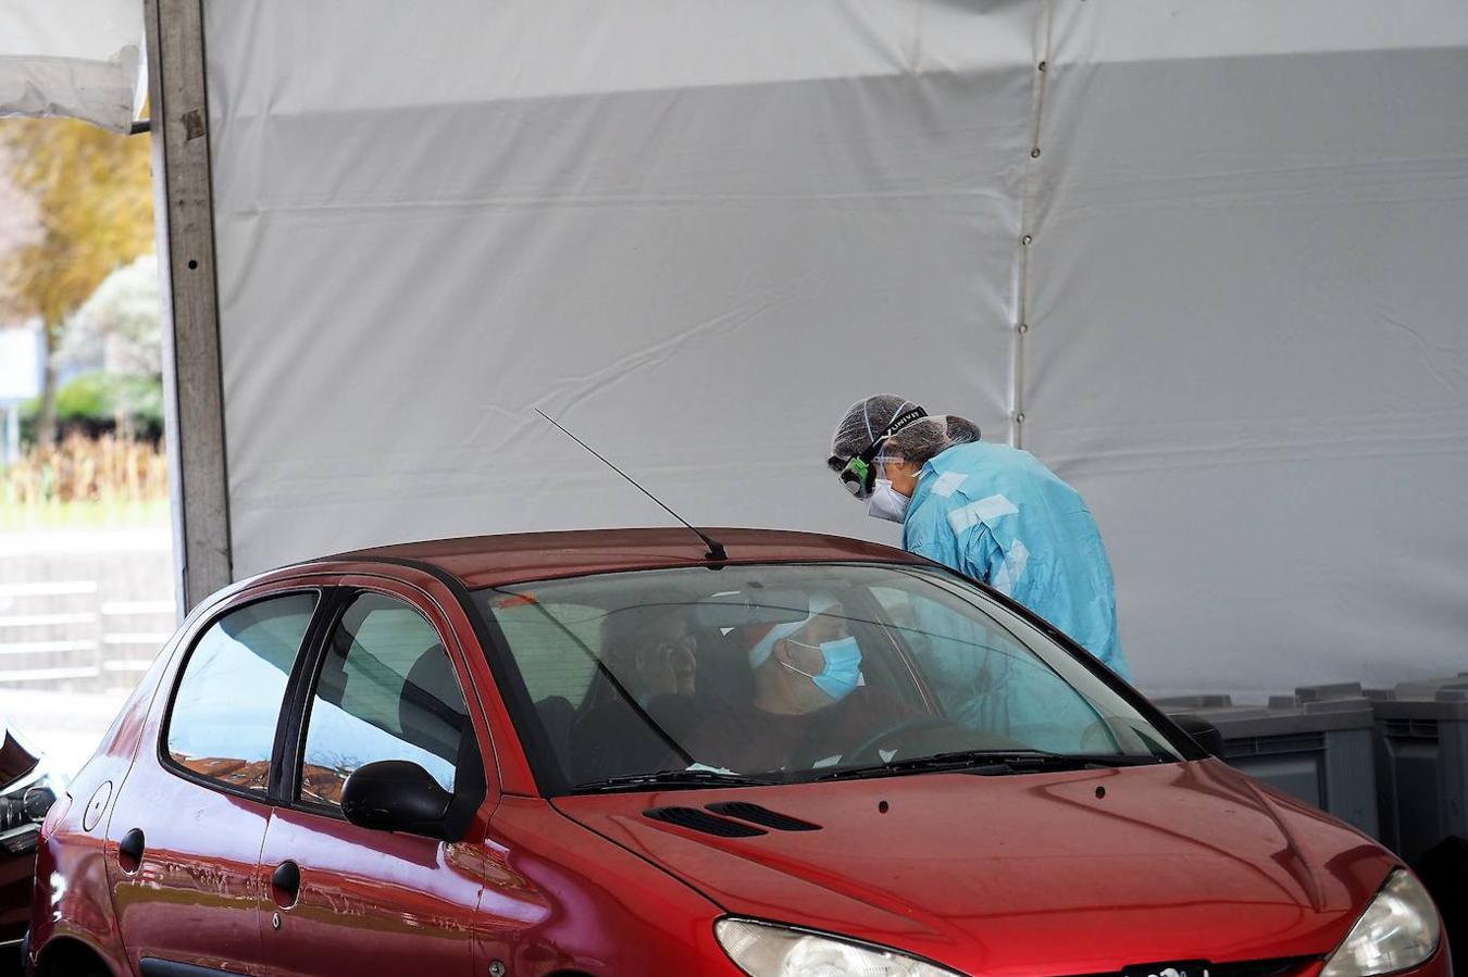
[[[198,638],[173,694],[173,763],[220,785],[264,794],[280,701],[316,594],[288,594],[232,610]]]

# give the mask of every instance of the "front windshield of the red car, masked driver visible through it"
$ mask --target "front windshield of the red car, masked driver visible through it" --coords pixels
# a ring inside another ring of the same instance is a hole
[[[700,566],[474,596],[546,794],[1183,758],[1098,665],[938,569]]]

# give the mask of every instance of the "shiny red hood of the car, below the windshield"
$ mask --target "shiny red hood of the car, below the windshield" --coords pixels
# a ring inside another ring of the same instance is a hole
[[[724,838],[644,814],[725,801],[819,830]],[[1365,836],[1216,760],[555,804],[731,914],[997,977],[1318,958],[1396,864]]]

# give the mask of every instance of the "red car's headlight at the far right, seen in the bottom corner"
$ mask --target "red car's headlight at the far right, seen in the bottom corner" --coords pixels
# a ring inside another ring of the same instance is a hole
[[[1373,977],[1409,970],[1437,952],[1437,908],[1422,883],[1396,871],[1381,886],[1320,977]]]

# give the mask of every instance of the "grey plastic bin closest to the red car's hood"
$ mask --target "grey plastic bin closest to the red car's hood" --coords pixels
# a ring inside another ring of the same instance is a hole
[[[1217,726],[1230,767],[1377,836],[1373,703],[1359,684],[1308,685],[1267,706],[1235,706],[1229,695],[1154,703]]]

